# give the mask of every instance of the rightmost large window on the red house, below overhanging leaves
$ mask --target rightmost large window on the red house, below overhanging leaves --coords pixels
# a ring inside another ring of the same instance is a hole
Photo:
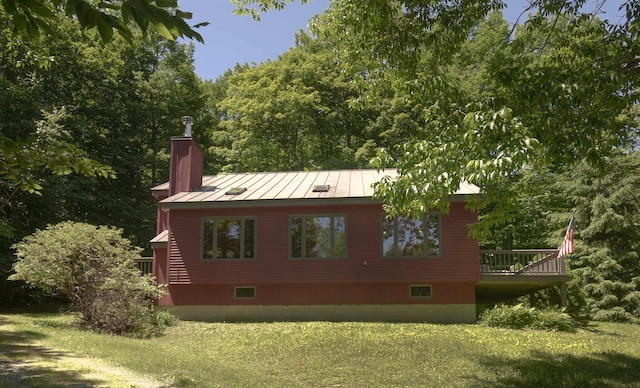
[[[440,214],[421,218],[396,217],[382,220],[384,257],[437,257],[441,255]]]

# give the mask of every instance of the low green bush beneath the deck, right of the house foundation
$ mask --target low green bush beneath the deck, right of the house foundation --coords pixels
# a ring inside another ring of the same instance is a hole
[[[500,305],[480,314],[479,323],[508,329],[538,329],[575,332],[577,323],[568,314],[557,309],[537,310],[522,304]]]

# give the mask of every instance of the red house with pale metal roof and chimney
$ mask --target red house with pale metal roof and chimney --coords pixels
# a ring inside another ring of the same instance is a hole
[[[171,141],[169,182],[152,189],[159,308],[188,320],[476,320],[476,284],[491,284],[467,234],[477,187],[453,194],[448,214],[390,220],[371,185],[393,170],[203,176],[196,142]]]

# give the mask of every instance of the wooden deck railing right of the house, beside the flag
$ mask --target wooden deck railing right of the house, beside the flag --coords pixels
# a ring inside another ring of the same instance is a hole
[[[564,275],[557,249],[481,250],[480,272],[503,275]]]

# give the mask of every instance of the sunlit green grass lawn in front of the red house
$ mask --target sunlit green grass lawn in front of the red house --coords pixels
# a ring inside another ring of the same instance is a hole
[[[163,337],[141,340],[78,330],[70,315],[0,314],[0,369],[28,368],[21,362],[47,354],[54,365],[23,384],[640,387],[640,327],[623,324],[554,333],[479,325],[180,322]],[[63,354],[120,372],[107,381],[62,373],[64,364],[55,360]]]

